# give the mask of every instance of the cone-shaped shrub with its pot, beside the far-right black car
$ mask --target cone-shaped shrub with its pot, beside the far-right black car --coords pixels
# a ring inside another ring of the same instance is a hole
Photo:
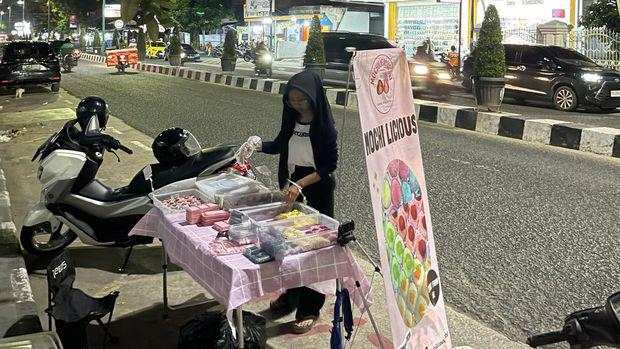
[[[474,97],[478,109],[499,112],[504,98],[506,58],[497,9],[489,5],[473,52]]]

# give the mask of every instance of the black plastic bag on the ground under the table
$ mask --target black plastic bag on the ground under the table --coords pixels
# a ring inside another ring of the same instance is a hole
[[[245,348],[264,348],[267,321],[262,316],[243,312]],[[234,349],[237,347],[226,316],[207,312],[194,317],[179,331],[179,349]]]

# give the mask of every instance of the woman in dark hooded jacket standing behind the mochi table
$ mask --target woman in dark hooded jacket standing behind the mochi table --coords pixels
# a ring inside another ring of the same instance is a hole
[[[278,183],[288,203],[303,194],[309,206],[333,217],[337,131],[321,78],[309,71],[291,77],[283,104],[280,131],[273,141],[262,142],[261,151],[279,154]],[[270,310],[284,316],[297,309],[292,331],[301,334],[312,329],[324,303],[322,293],[298,287],[280,295]]]

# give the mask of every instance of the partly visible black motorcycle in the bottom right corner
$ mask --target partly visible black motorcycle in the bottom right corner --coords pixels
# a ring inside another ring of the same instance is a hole
[[[568,342],[571,349],[596,346],[620,347],[620,292],[607,298],[604,306],[576,311],[564,319],[561,331],[531,336],[532,347]]]

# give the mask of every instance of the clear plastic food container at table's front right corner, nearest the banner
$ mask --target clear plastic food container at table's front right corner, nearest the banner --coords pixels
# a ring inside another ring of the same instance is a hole
[[[339,225],[338,221],[322,214],[252,224],[260,247],[277,260],[335,245]]]

